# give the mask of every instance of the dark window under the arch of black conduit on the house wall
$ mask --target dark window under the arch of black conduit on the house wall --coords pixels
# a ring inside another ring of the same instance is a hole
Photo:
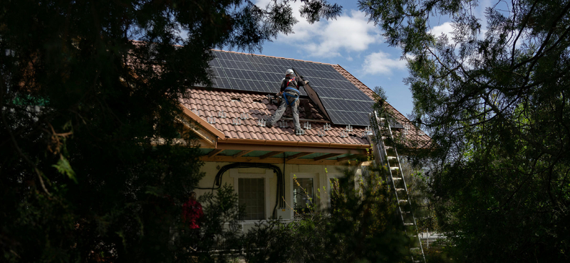
[[[238,178],[239,205],[245,206],[242,220],[265,219],[265,179]]]

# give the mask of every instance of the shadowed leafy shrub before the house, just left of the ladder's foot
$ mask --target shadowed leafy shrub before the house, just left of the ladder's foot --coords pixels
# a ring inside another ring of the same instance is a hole
[[[292,262],[405,262],[410,239],[395,213],[380,170],[358,179],[355,171],[331,186],[331,209],[291,222]],[[324,192],[321,192],[323,194]],[[324,193],[326,196],[326,193]]]

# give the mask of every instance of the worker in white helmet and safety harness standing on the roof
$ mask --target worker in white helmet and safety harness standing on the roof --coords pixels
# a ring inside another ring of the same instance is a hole
[[[304,81],[301,77],[295,77],[293,70],[289,69],[285,71],[285,77],[281,80],[281,90],[279,91],[279,96],[283,96],[279,108],[275,111],[273,117],[269,118],[266,123],[266,127],[273,127],[273,125],[281,119],[281,116],[287,109],[287,106],[291,106],[293,111],[293,120],[295,122],[295,133],[302,132],[301,124],[299,124],[299,86],[305,86],[309,84],[309,81]]]

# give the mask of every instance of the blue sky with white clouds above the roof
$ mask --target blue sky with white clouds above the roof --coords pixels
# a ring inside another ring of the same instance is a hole
[[[253,1],[264,7],[272,0]],[[294,26],[294,33],[278,36],[256,53],[341,65],[371,89],[383,87],[388,102],[408,116],[413,111],[413,100],[409,87],[403,83],[403,79],[408,77],[408,68],[405,60],[400,60],[401,50],[385,44],[382,31],[368,23],[365,14],[358,10],[356,0],[329,2],[343,6],[341,16],[312,25],[299,15],[301,1],[292,3],[294,15],[299,20]],[[484,6],[489,5],[490,0],[482,0],[474,9],[477,16],[483,17]],[[435,36],[447,33],[451,38],[450,19],[435,18],[431,23],[431,33]],[[482,25],[483,28],[487,26],[484,19]]]

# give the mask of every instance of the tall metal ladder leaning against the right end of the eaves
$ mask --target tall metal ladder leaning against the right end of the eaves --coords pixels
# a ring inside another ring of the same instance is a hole
[[[387,167],[386,182],[388,183],[388,188],[393,189],[395,200],[398,200],[397,211],[403,222],[405,232],[414,241],[413,245],[410,245],[412,262],[425,262],[418,225],[415,222],[411,209],[412,203],[409,198],[408,186],[406,186],[402,166],[400,165],[400,156],[398,156],[398,151],[396,151],[393,144],[386,145],[393,141],[392,127],[390,122],[378,117],[376,111],[371,113],[371,127],[372,135],[375,138],[373,146],[375,161],[378,165]],[[371,143],[373,142],[370,137],[368,139]]]

